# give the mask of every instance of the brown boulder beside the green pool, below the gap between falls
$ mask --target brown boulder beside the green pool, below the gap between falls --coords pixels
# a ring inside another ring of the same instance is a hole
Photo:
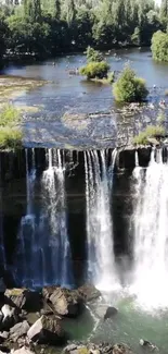
[[[56,286],[43,288],[42,294],[61,316],[76,317],[80,310],[80,300],[76,291]]]

